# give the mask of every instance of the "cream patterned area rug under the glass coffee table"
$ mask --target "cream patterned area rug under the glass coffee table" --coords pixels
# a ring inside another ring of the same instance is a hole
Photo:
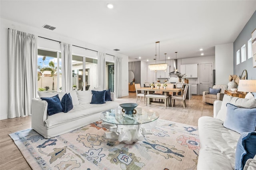
[[[101,122],[45,139],[33,129],[10,134],[32,169],[194,170],[200,141],[198,128],[157,120],[153,134],[124,144],[104,138]]]

